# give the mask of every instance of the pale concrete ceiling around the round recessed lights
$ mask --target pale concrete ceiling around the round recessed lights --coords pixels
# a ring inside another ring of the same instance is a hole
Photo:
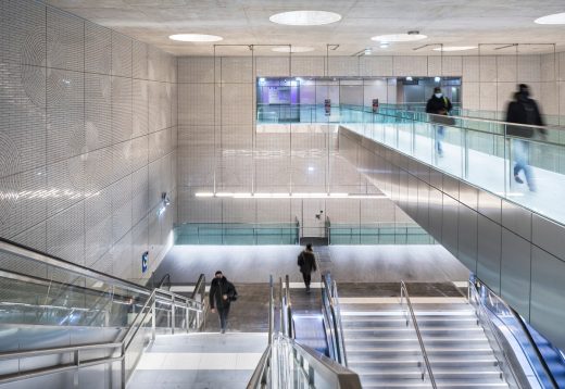
[[[565,25],[537,25],[533,20],[565,12],[564,0],[48,0],[103,26],[176,55],[211,55],[213,43],[174,42],[172,34],[196,33],[224,37],[219,45],[312,46],[325,55],[326,43],[339,43],[332,55],[351,55],[366,47],[375,54],[430,54],[427,43],[477,46],[478,43],[557,43],[565,50]],[[315,27],[282,26],[272,14],[294,10],[332,11],[340,22]],[[428,39],[392,43],[379,49],[369,38],[382,34],[419,30]],[[516,48],[481,53],[511,54]],[[548,46],[518,47],[520,53],[553,52]],[[247,47],[216,47],[221,55],[248,55]],[[477,54],[478,50],[453,54]],[[256,47],[256,55],[275,54]],[[280,53],[278,53],[280,55]],[[298,54],[300,55],[300,54]]]

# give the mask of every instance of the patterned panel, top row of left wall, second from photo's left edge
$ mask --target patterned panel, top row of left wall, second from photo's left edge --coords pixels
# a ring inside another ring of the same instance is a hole
[[[47,65],[81,72],[85,68],[85,22],[47,8]]]

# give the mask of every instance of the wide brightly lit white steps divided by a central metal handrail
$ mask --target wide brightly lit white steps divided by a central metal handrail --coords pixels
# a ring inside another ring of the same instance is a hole
[[[508,388],[466,301],[413,298],[438,388]],[[397,298],[340,299],[348,364],[364,388],[431,388],[416,331]]]

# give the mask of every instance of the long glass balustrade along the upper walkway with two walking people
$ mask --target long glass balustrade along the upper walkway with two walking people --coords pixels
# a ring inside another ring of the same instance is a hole
[[[300,122],[291,126],[341,125],[565,223],[565,208],[556,205],[565,195],[565,131],[560,127],[507,124],[497,113],[484,113],[488,118],[430,115],[415,104],[381,104],[375,112],[371,106],[332,105],[329,115],[319,104],[294,109],[307,114],[300,114]],[[461,108],[454,112],[479,115]]]

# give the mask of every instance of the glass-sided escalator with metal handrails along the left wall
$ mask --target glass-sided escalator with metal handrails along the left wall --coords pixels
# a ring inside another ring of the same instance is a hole
[[[125,388],[155,337],[203,326],[203,276],[186,298],[3,239],[0,258],[2,388]]]

